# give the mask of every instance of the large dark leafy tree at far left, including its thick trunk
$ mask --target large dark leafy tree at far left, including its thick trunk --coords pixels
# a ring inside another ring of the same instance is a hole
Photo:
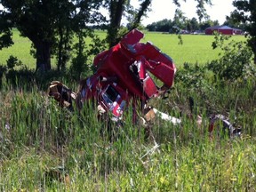
[[[11,29],[18,28],[36,48],[36,69],[43,71],[51,69],[51,55],[57,47],[59,54],[68,47],[72,31],[101,20],[96,12],[100,0],[0,0],[0,4],[4,6],[0,12],[0,48],[12,44]],[[59,61],[64,62],[65,57],[61,57]]]

